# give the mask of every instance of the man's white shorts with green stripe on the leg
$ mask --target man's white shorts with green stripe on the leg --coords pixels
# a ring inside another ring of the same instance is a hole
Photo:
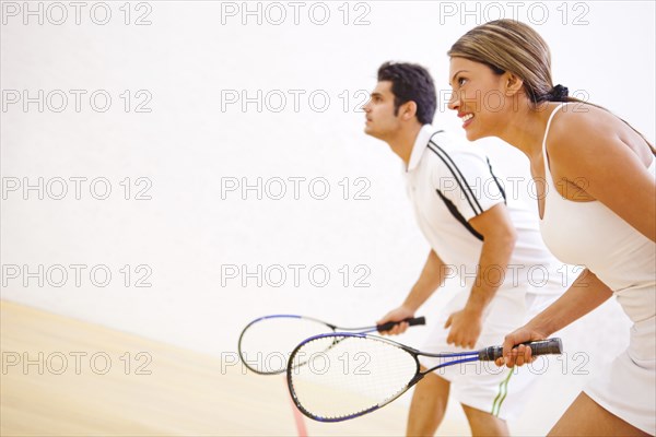
[[[446,344],[449,329],[444,329],[444,323],[450,314],[465,307],[468,297],[468,292],[458,293],[448,303],[422,351],[465,351]],[[526,323],[558,297],[525,294],[519,288],[500,290],[485,310],[483,329],[475,349],[502,344],[506,334]],[[426,368],[443,362],[440,358],[420,358],[421,365]],[[527,366],[509,369],[497,367],[493,362],[462,363],[437,369],[434,374],[450,382],[450,393],[458,402],[502,420],[514,418],[522,413],[527,390],[537,376]]]

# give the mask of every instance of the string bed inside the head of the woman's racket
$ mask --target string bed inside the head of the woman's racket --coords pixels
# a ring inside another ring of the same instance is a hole
[[[304,359],[289,374],[292,394],[311,416],[340,418],[383,405],[402,393],[417,361],[385,341],[359,336],[315,339],[292,357]]]

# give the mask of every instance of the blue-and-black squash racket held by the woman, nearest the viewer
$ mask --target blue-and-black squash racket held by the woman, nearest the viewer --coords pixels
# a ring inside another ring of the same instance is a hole
[[[562,353],[560,339],[526,344],[534,356]],[[431,354],[376,335],[329,333],[309,338],[294,349],[288,365],[288,386],[294,403],[307,417],[341,422],[387,405],[433,370],[495,361],[502,354],[502,346]],[[445,362],[421,371],[420,355]]]

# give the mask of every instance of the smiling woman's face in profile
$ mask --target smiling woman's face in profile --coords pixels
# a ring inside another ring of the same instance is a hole
[[[450,59],[453,94],[448,107],[458,113],[469,141],[497,135],[503,127],[508,110],[513,109],[512,94],[505,86],[507,75],[495,74],[484,63],[457,57]]]

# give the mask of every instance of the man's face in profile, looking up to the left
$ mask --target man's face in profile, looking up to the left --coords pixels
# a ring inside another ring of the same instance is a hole
[[[394,94],[390,81],[382,81],[376,84],[363,109],[366,117],[364,133],[385,140],[401,129],[400,117],[394,115]]]

